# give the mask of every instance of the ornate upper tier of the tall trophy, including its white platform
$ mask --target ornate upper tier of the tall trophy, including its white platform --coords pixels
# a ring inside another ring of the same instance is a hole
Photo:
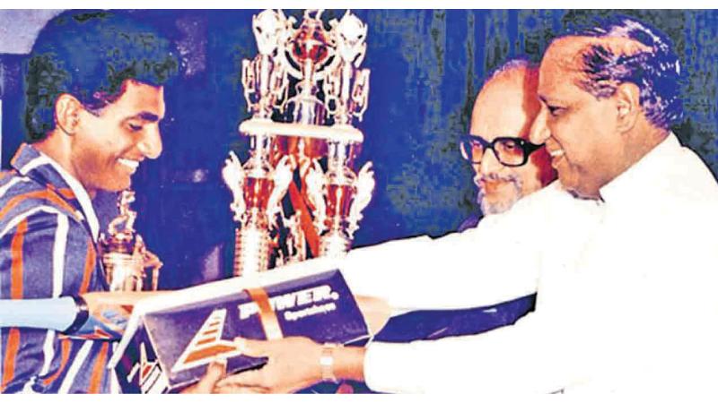
[[[279,10],[253,17],[258,55],[242,64],[252,118],[241,123],[241,133],[363,141],[354,120],[361,120],[369,96],[370,72],[360,68],[367,27],[347,10],[338,21],[328,21],[327,30],[321,15],[322,10],[307,10],[298,26]],[[272,120],[275,111],[285,114],[287,106],[293,108],[293,119]]]

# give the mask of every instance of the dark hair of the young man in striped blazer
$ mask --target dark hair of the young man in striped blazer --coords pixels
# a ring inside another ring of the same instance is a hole
[[[170,42],[155,30],[109,12],[68,12],[48,21],[23,64],[25,128],[39,141],[55,128],[55,102],[73,95],[98,113],[127,80],[159,86],[178,72]]]

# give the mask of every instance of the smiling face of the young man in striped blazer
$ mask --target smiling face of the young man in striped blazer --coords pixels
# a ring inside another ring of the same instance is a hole
[[[92,196],[98,189],[127,189],[145,158],[162,153],[159,123],[164,116],[162,87],[126,81],[122,95],[99,113],[82,109],[77,117],[70,174]]]

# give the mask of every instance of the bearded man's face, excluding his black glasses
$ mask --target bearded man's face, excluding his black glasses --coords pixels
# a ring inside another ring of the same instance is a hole
[[[526,138],[539,108],[536,85],[536,72],[526,67],[499,73],[486,82],[474,104],[469,132],[486,141],[496,137]],[[521,167],[505,167],[494,151],[487,150],[481,161],[472,165],[477,201],[484,214],[509,210],[521,197],[543,187],[541,178],[546,175],[542,171],[550,168],[537,163],[541,153],[545,151],[535,151]]]

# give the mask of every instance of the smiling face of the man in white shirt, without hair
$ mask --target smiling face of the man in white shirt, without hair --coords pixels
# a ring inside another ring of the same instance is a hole
[[[566,37],[548,47],[539,70],[542,107],[530,137],[546,142],[565,190],[590,199],[620,172],[624,150],[615,97],[597,99],[575,84],[582,51],[596,40]]]

